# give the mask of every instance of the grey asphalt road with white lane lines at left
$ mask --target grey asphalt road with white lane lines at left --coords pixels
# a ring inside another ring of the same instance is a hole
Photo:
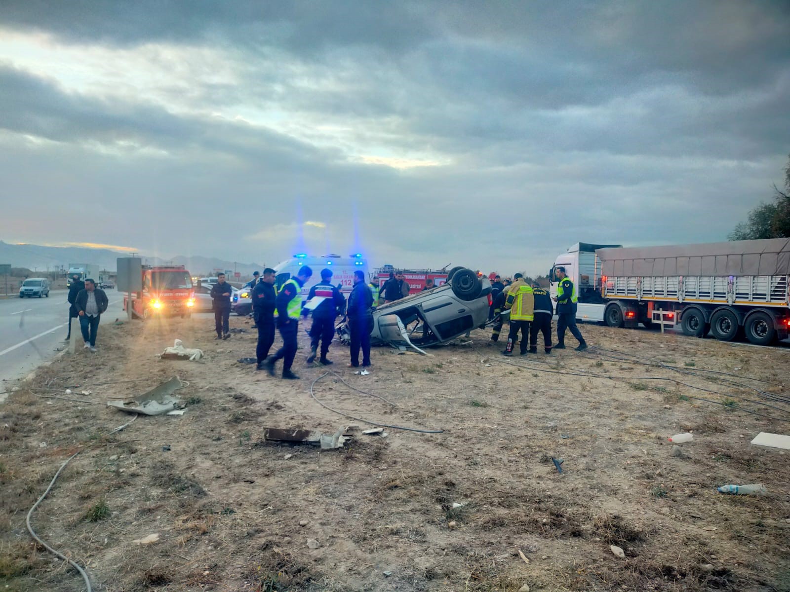
[[[110,305],[103,323],[122,317],[123,298],[115,290],[106,290]],[[51,291],[49,298],[0,299],[0,392],[6,391],[9,380],[30,373],[41,362],[51,360],[66,346],[69,305],[66,290]],[[79,324],[75,322],[77,347],[82,347]],[[99,339],[101,345],[101,325]],[[5,395],[0,395],[0,400]]]

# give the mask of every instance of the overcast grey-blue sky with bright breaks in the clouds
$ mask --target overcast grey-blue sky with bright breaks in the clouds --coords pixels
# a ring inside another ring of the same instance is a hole
[[[0,10],[0,239],[545,272],[781,185],[790,2]]]

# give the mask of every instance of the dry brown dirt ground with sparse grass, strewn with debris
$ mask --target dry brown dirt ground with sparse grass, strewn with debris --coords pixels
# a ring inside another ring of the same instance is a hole
[[[301,332],[303,380],[284,381],[237,362],[254,355],[249,323],[217,342],[207,318],[105,320],[98,354],[56,358],[10,395],[0,590],[85,589],[25,530],[77,451],[32,525],[93,590],[790,590],[790,455],[750,444],[790,431],[786,349],[582,325],[602,349],[504,358],[480,330],[431,357],[375,348],[368,376],[334,344],[322,377]],[[204,360],[157,358],[175,338]],[[107,436],[132,417],[108,399],[173,376],[184,415]],[[311,384],[355,417],[444,431],[362,435]],[[348,425],[338,450],[263,441]],[[717,493],[727,483],[768,494]]]

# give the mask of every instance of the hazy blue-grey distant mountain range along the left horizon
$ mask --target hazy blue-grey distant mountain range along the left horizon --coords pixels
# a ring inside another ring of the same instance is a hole
[[[87,263],[98,265],[100,269],[114,272],[118,257],[128,257],[128,253],[119,253],[111,249],[88,249],[85,247],[51,247],[42,245],[9,245],[0,241],[0,264],[9,263],[14,268],[28,268],[40,272],[55,271],[59,268],[68,269],[70,263]],[[141,256],[143,263],[149,265],[174,264],[184,265],[192,275],[210,274],[214,269],[234,269],[233,261],[216,259],[215,257],[184,257],[177,255],[170,259]],[[243,277],[252,275],[254,271],[262,271],[261,265],[255,263],[236,263],[235,271]]]

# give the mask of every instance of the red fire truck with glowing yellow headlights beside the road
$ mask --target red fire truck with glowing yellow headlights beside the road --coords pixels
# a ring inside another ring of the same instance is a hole
[[[190,272],[183,265],[142,268],[142,291],[132,293],[132,313],[141,319],[152,316],[189,317],[194,306]],[[123,309],[129,294],[124,294]]]

